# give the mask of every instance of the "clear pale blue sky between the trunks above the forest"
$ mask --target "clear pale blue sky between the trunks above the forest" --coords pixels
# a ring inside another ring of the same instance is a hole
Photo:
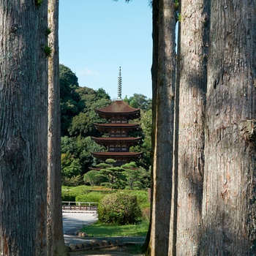
[[[103,88],[117,97],[152,97],[152,18],[148,0],[59,0],[60,63],[80,86]]]

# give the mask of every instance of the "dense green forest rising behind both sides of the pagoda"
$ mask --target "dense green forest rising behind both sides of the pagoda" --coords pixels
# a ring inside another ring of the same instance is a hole
[[[108,92],[104,89],[94,91],[89,87],[78,85],[78,78],[69,67],[60,64],[60,93],[61,93],[61,176],[62,184],[66,186],[78,186],[89,181],[84,180],[84,175],[90,172],[90,167],[99,165],[91,152],[105,151],[91,136],[105,136],[97,131],[94,123],[102,123],[107,120],[99,118],[95,108],[102,108],[111,103]],[[115,100],[115,99],[113,99]],[[142,137],[142,143],[133,146],[130,151],[143,152],[143,157],[138,159],[137,176],[142,178],[143,188],[150,187],[151,166],[151,123],[152,105],[151,99],[143,94],[133,94],[132,97],[124,97],[133,108],[140,108],[140,118],[133,120],[140,124],[141,130],[130,134],[133,137]],[[98,181],[97,185],[100,185]]]

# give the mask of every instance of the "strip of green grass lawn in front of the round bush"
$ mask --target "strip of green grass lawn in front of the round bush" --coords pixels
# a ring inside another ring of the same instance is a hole
[[[94,237],[146,236],[148,222],[143,221],[138,225],[122,226],[96,222],[94,225],[83,227],[80,231]]]

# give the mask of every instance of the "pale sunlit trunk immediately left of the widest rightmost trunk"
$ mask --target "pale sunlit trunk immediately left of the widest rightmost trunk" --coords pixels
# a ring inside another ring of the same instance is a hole
[[[206,110],[208,0],[181,1],[178,55],[178,202],[176,255],[196,255],[200,241]]]

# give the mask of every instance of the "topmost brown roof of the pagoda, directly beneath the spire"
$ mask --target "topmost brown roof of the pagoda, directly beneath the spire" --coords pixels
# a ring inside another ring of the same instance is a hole
[[[127,103],[125,103],[123,100],[116,100],[115,102],[112,102],[110,105],[103,107],[103,108],[97,108],[95,109],[97,113],[127,113],[127,114],[139,114],[140,109],[139,108],[132,108]]]

